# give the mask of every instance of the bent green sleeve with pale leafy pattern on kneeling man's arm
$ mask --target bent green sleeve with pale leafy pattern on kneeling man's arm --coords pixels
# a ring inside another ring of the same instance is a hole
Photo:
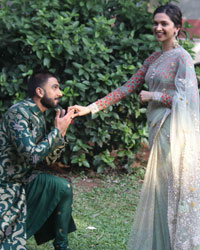
[[[37,143],[37,132],[31,130],[31,124],[23,110],[21,112],[16,109],[9,110],[4,123],[6,123],[4,126],[6,126],[9,140],[17,154],[27,164],[35,165],[46,160],[50,154],[55,154],[57,149],[64,148],[64,138],[57,128],[54,128]]]

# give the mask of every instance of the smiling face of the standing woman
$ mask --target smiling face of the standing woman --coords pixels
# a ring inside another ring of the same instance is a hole
[[[159,42],[170,43],[178,31],[179,28],[175,27],[170,17],[165,13],[158,13],[154,16],[153,32]]]

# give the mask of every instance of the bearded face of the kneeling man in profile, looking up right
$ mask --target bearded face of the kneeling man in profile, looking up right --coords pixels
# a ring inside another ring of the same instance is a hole
[[[45,108],[55,108],[58,105],[59,98],[62,97],[60,85],[56,78],[48,78],[47,83],[42,88],[44,96],[41,98],[41,104]]]

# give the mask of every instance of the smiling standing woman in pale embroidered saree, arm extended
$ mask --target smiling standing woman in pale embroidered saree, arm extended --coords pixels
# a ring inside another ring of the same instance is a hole
[[[172,4],[154,12],[162,50],[153,53],[122,87],[78,114],[95,113],[146,82],[151,153],[128,250],[200,249],[199,93],[190,55],[176,40],[182,13]],[[199,248],[198,248],[199,247]]]

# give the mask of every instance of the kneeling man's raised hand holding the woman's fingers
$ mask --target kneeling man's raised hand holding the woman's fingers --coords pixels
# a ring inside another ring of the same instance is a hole
[[[60,130],[60,133],[63,137],[66,135],[67,129],[71,124],[72,119],[76,116],[77,115],[74,114],[74,109],[71,109],[69,112],[67,112],[67,114],[65,114],[65,111],[63,110],[62,115],[61,110],[57,110],[55,117],[55,128],[58,128]]]

